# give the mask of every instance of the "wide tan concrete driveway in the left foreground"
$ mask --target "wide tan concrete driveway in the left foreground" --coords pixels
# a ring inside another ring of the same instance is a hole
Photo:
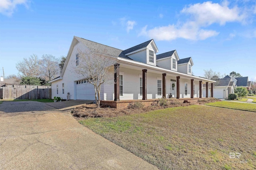
[[[157,169],[48,104],[0,104],[0,169]]]

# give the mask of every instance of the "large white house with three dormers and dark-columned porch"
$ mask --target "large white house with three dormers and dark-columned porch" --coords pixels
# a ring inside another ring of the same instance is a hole
[[[192,58],[180,59],[176,50],[156,55],[158,47],[154,40],[121,50],[74,36],[60,77],[49,82],[52,98],[66,99],[69,93],[74,100],[95,99],[94,86],[86,81],[89,77],[81,79],[74,71],[79,63],[78,50],[85,49],[104,51],[104,55],[117,59],[113,83],[104,83],[101,87],[102,100],[202,97],[202,83],[208,82],[210,86],[215,82],[192,75]],[[119,91],[114,90],[114,78],[119,83]]]

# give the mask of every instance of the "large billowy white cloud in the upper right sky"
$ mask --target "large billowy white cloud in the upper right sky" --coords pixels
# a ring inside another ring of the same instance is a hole
[[[244,22],[246,19],[246,15],[237,6],[229,8],[228,5],[228,1],[223,1],[222,4],[204,2],[189,5],[181,10],[182,14],[187,14],[190,17],[186,22],[159,26],[149,30],[145,26],[139,36],[166,41],[177,38],[205,40],[217,36],[219,32],[206,29],[206,27],[214,23],[224,25],[226,22]]]

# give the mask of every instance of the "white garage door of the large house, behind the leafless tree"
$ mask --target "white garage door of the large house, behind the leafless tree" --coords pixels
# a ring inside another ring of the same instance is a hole
[[[94,85],[82,80],[76,82],[76,99],[94,100],[95,91]]]

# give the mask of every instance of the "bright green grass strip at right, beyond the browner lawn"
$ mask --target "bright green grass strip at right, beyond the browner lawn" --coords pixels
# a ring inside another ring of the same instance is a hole
[[[237,109],[242,111],[252,111],[256,112],[256,105],[251,103],[238,103],[238,102],[228,102],[228,101],[217,101],[214,103],[206,103],[207,106],[223,107],[228,109]]]

